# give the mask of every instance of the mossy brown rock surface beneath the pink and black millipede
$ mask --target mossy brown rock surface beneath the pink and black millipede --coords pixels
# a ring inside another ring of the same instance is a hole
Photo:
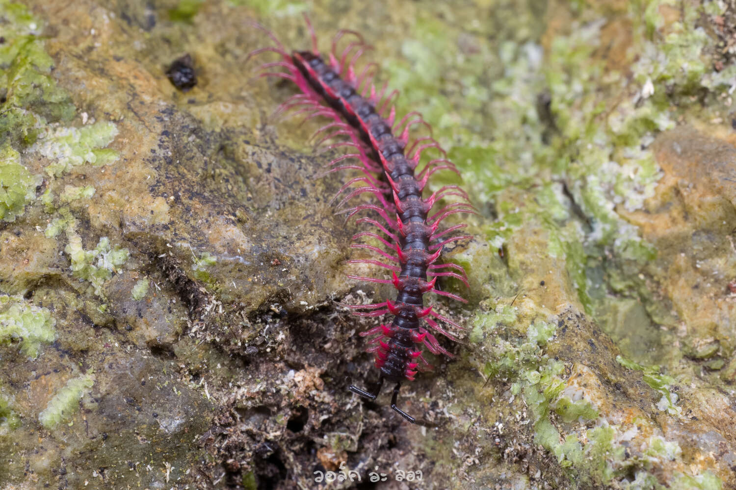
[[[734,8],[0,0],[0,488],[736,489]],[[480,209],[426,427],[347,392],[375,323],[333,300],[390,290],[344,277],[321,123],[253,78],[250,20],[305,46],[302,11]]]

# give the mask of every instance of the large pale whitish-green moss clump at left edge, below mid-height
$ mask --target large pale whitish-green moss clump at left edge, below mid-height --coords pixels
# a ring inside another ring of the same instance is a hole
[[[19,342],[21,353],[35,359],[42,343],[56,339],[51,311],[22,298],[0,295],[0,345]]]

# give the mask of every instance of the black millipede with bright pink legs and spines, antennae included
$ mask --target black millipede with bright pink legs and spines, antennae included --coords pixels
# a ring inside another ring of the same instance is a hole
[[[277,109],[281,113],[296,109],[296,114],[303,114],[307,119],[325,117],[330,123],[316,131],[318,145],[328,143],[327,148],[350,148],[350,152],[329,164],[328,173],[338,170],[355,170],[358,176],[348,180],[337,192],[344,192],[339,206],[358,195],[370,194],[374,202],[361,202],[354,206],[340,209],[352,217],[358,212],[375,213],[372,217],[360,217],[356,223],[365,223],[376,228],[378,232],[363,231],[355,234],[354,240],[374,239],[383,247],[357,242],[352,248],[364,248],[381,256],[382,259],[353,259],[349,262],[367,263],[390,270],[392,279],[348,277],[360,281],[381,284],[393,284],[398,294],[396,300],[366,305],[344,305],[353,309],[355,314],[364,317],[378,317],[392,314],[392,323],[381,324],[361,336],[373,336],[367,349],[375,354],[375,365],[381,370],[378,387],[375,392],[367,392],[356,386],[350,390],[362,397],[374,400],[381,391],[383,381],[395,382],[391,407],[402,417],[416,423],[414,417],[397,407],[397,396],[404,378],[414,380],[417,369],[429,367],[422,356],[422,344],[435,354],[451,356],[437,339],[423,325],[431,330],[457,340],[437,321],[461,329],[461,326],[441,314],[431,306],[425,308],[424,295],[434,292],[465,302],[458,295],[436,288],[436,280],[440,276],[458,278],[467,286],[467,275],[457,264],[436,264],[444,245],[467,236],[448,234],[464,227],[464,224],[439,229],[445,217],[460,212],[474,212],[467,193],[456,185],[446,185],[428,198],[422,198],[428,179],[439,170],[452,170],[459,173],[455,165],[447,159],[445,151],[431,136],[411,137],[413,126],[426,126],[418,112],[409,112],[398,122],[395,121],[393,91],[386,96],[386,84],[376,90],[372,82],[378,65],[369,63],[361,71],[356,71],[356,62],[370,47],[356,32],[339,31],[332,42],[328,60],[319,54],[314,29],[307,19],[311,32],[311,51],[292,51],[283,47],[271,32],[260,24],[254,24],[275,43],[275,46],[257,49],[254,54],[272,51],[280,55],[280,60],[261,65],[261,76],[277,76],[291,80],[300,89],[300,93],[291,96]],[[347,46],[339,52],[338,43],[347,39]],[[274,71],[272,68],[282,68]],[[434,148],[441,156],[436,159],[422,161],[425,151]],[[357,163],[350,162],[353,159]],[[422,162],[420,164],[420,162]],[[419,167],[419,168],[418,168]],[[355,185],[358,187],[355,187]],[[456,196],[457,201],[449,203],[434,214],[429,215],[435,203],[449,195]],[[377,216],[376,216],[377,215]],[[384,262],[385,261],[385,262]]]

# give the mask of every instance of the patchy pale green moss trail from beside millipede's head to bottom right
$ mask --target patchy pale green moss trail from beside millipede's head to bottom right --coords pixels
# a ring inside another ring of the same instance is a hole
[[[652,436],[647,444],[625,457],[624,451],[629,444],[623,441],[630,441],[636,435],[636,425],[626,428],[609,425],[588,400],[573,400],[563,379],[565,364],[549,358],[543,350],[555,336],[556,324],[537,320],[527,325],[526,332],[523,332],[519,331],[523,325],[518,324],[518,318],[516,309],[500,306],[498,311],[478,314],[473,331],[489,353],[484,375],[503,378],[509,383],[512,400],[518,395],[523,396],[534,428],[534,442],[555,455],[570,478],[584,485],[618,485],[630,490],[665,489],[650,470],[681,458],[679,444],[661,436]],[[645,381],[652,388],[662,393],[669,392],[671,378],[630,361],[621,359],[620,362],[626,367],[645,371]],[[594,422],[596,426],[581,429],[580,422]],[[629,475],[636,475],[636,479],[629,480]],[[709,472],[681,475],[676,481],[680,480],[712,484],[712,489],[719,489],[721,484]]]

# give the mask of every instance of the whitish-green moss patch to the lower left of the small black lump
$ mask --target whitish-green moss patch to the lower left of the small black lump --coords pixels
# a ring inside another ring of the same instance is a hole
[[[38,151],[52,163],[46,167],[50,176],[61,176],[77,165],[107,165],[118,159],[118,152],[105,148],[118,134],[115,123],[100,122],[81,128],[47,129],[29,148]]]

